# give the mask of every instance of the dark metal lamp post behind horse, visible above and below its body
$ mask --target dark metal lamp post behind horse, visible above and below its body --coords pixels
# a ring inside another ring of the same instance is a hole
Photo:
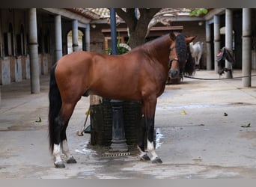
[[[110,24],[111,24],[111,43],[112,55],[118,54],[117,49],[117,30],[115,20],[115,8],[110,9]],[[120,62],[121,63],[121,62]],[[124,132],[124,118],[123,118],[123,101],[111,100],[112,103],[112,144],[110,151],[125,152],[128,150],[127,140]]]

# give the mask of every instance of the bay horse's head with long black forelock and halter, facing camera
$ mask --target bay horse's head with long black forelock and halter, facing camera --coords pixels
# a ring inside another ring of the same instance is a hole
[[[169,77],[177,78],[182,75],[185,65],[189,58],[189,47],[188,44],[195,39],[193,37],[186,37],[180,33],[170,33],[171,46],[170,46],[170,55],[169,55]]]

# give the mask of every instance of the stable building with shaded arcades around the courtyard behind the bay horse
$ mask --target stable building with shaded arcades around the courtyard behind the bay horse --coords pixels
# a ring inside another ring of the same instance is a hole
[[[31,79],[31,46],[37,45],[39,74],[49,73],[52,64],[69,52],[84,50],[107,52],[110,44],[110,25],[108,19],[100,19],[100,15],[83,9],[35,9],[35,17],[31,9],[0,9],[0,85]],[[236,63],[234,68],[243,69],[243,38],[249,38],[251,69],[256,69],[255,9],[211,9],[205,16],[197,18],[173,17],[166,26],[157,23],[150,29],[146,40],[153,40],[168,31],[181,31],[186,35],[196,35],[196,41],[204,42],[201,68],[216,69],[216,52],[223,46],[231,47]],[[227,16],[228,15],[228,16]],[[245,26],[245,19],[251,20]],[[31,19],[35,19],[31,25]],[[127,25],[117,25],[122,43],[128,40]],[[36,42],[31,33],[36,29]],[[249,30],[249,32],[246,32]],[[246,32],[246,33],[245,33]],[[231,36],[231,37],[228,37]],[[231,39],[230,39],[231,38]],[[244,55],[245,56],[245,55]],[[248,67],[248,66],[247,66]],[[247,68],[244,67],[244,68]],[[39,76],[40,76],[39,75]]]

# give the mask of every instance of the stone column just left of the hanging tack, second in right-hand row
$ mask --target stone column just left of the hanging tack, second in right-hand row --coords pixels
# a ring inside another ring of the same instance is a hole
[[[221,43],[221,38],[219,33],[219,27],[220,27],[219,15],[214,15],[213,21],[214,21],[214,70],[216,73],[218,73],[218,63],[216,61],[216,56],[219,53],[220,43]]]

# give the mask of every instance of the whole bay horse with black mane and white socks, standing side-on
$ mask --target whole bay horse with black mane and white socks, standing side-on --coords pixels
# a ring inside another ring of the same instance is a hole
[[[144,123],[138,142],[140,157],[162,162],[153,147],[156,99],[165,89],[168,72],[171,77],[192,73],[193,66],[186,68],[186,45],[194,38],[171,32],[124,55],[73,52],[61,58],[52,67],[49,88],[49,145],[55,167],[65,167],[61,150],[67,163],[76,163],[69,153],[66,129],[76,103],[89,94],[141,101]],[[144,135],[149,155],[144,149]]]

